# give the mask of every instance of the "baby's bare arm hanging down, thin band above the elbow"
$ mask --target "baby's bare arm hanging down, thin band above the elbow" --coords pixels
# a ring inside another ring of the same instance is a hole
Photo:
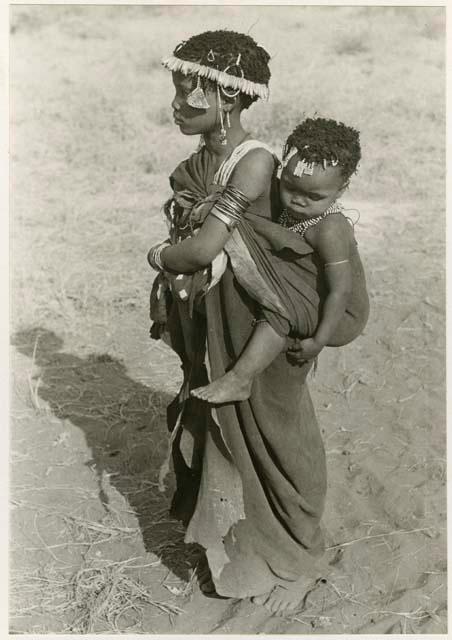
[[[341,215],[331,215],[306,232],[306,240],[323,263],[327,295],[322,317],[312,338],[301,341],[302,356],[314,358],[328,344],[343,317],[352,288],[351,228]]]

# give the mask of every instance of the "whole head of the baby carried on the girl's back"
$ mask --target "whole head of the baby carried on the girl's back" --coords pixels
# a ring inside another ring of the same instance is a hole
[[[323,213],[347,188],[360,158],[356,129],[335,120],[307,118],[284,145],[283,207],[299,218]]]

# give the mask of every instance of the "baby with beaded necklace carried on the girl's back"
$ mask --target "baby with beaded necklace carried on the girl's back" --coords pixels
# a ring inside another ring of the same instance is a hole
[[[351,342],[364,329],[369,302],[353,226],[337,199],[361,158],[359,133],[334,120],[308,118],[295,128],[283,152],[278,221],[312,247],[321,272],[319,321],[311,336],[299,336],[288,352],[295,364],[315,358],[325,346]],[[259,319],[234,367],[192,394],[211,403],[245,400],[254,377],[287,349],[287,337]]]

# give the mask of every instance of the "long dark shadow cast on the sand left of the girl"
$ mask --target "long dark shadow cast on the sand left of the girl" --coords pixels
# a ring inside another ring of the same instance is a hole
[[[61,420],[83,431],[92,459],[87,463],[99,481],[99,499],[109,510],[102,479],[127,500],[138,518],[145,548],[182,580],[199,549],[183,542],[182,525],[168,516],[172,479],[166,494],[158,490],[158,472],[166,456],[166,407],[172,400],[127,375],[111,356],[85,358],[62,351],[63,341],[47,329],[18,331],[12,344],[33,358],[40,378],[38,395]]]

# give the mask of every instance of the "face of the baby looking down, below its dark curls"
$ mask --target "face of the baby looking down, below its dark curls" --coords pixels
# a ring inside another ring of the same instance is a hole
[[[303,173],[301,177],[293,172],[300,160],[295,154],[281,173],[280,198],[285,209],[294,218],[318,216],[344,191],[346,181],[339,167],[314,165],[312,176]]]

